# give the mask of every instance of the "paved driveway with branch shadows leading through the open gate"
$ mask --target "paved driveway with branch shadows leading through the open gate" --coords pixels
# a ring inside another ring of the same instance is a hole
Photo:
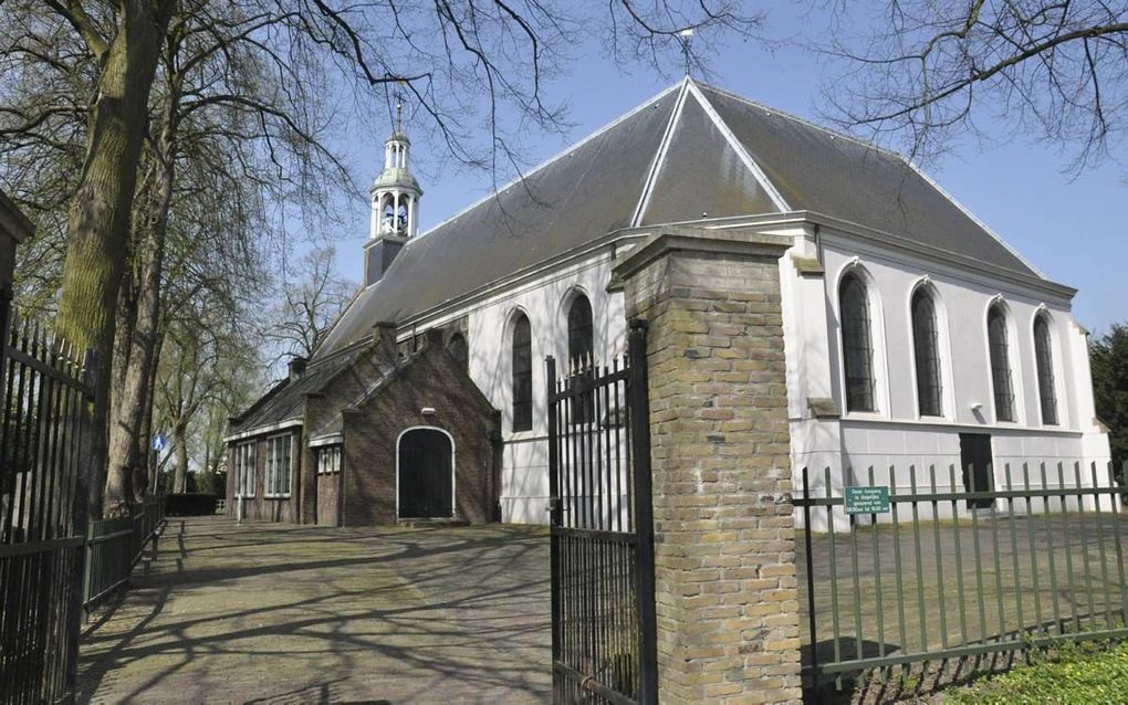
[[[179,531],[91,619],[80,702],[549,699],[544,528]]]

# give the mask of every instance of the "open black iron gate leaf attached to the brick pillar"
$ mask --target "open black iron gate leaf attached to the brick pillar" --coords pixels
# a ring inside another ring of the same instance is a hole
[[[645,323],[610,367],[546,367],[553,699],[656,703]]]

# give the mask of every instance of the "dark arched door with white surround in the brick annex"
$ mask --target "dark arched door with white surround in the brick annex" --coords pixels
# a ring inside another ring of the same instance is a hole
[[[453,466],[450,438],[437,429],[415,429],[399,439],[399,515],[450,519]]]

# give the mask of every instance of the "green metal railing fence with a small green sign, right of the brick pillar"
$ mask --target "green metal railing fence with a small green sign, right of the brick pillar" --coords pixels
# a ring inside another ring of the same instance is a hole
[[[981,491],[970,469],[871,468],[836,492],[804,468],[794,504],[828,529],[799,541],[808,682],[1128,636],[1123,488],[1105,469],[1007,465]]]

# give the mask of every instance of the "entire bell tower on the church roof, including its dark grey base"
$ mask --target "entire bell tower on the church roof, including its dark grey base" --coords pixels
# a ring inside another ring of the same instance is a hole
[[[412,142],[404,133],[403,106],[396,106],[396,126],[384,143],[384,171],[369,191],[372,220],[364,246],[364,284],[380,281],[391,261],[418,233],[418,203],[423,195],[408,168]]]

